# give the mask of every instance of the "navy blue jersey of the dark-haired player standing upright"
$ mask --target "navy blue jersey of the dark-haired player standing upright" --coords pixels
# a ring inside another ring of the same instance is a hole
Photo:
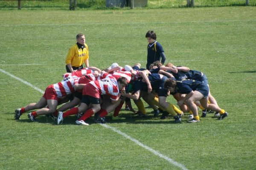
[[[155,41],[152,44],[148,44],[148,57],[147,57],[147,65],[146,68],[149,70],[149,66],[155,62],[155,61],[160,61],[160,54],[164,52],[162,45]]]

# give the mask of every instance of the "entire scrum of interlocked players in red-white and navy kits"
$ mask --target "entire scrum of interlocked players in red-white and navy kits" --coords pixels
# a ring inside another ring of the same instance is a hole
[[[200,122],[198,108],[202,116],[207,111],[215,111],[219,120],[228,116],[221,109],[209,91],[208,79],[201,71],[177,67],[172,63],[166,66],[154,62],[151,70],[140,68],[140,64],[120,67],[113,63],[110,68],[100,70],[96,67],[83,68],[63,75],[61,82],[49,85],[37,103],[30,103],[15,110],[15,119],[23,113],[34,122],[40,115],[49,115],[59,125],[70,115],[76,115],[76,125],[89,125],[87,119],[94,114],[95,122],[105,123],[105,116],[114,111],[118,116],[125,101],[133,99],[138,107],[138,116],[145,117],[143,100],[154,110],[154,116],[166,119],[171,114],[174,122],[181,123],[184,113],[189,113],[189,123]],[[166,101],[173,95],[177,108]],[[65,104],[64,104],[65,103]],[[62,105],[57,108],[58,105]],[[76,107],[77,106],[77,107]]]

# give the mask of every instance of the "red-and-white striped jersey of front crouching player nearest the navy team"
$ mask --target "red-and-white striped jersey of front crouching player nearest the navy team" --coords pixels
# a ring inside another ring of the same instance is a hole
[[[99,90],[99,94],[109,95],[112,100],[116,100],[119,94],[119,88],[116,79],[108,73],[102,74],[102,78],[103,79],[89,83]]]

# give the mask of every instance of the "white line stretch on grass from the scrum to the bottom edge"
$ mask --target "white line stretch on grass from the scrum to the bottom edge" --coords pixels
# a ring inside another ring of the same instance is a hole
[[[188,169],[186,169],[186,167],[185,167],[183,164],[180,164],[180,163],[176,162],[175,160],[169,158],[168,156],[165,156],[165,155],[163,155],[162,153],[157,152],[156,150],[152,149],[151,147],[148,147],[147,145],[141,143],[141,142],[138,141],[137,139],[134,139],[134,138],[132,138],[131,136],[128,136],[127,134],[121,132],[120,130],[117,130],[116,128],[111,127],[111,126],[108,126],[108,125],[106,125],[106,124],[100,124],[100,125],[102,125],[102,126],[104,126],[104,127],[106,127],[106,128],[109,128],[109,129],[113,130],[114,132],[116,132],[116,133],[118,133],[118,134],[124,136],[124,137],[127,138],[127,139],[130,139],[132,142],[134,142],[134,143],[136,143],[137,145],[139,145],[139,146],[145,148],[146,150],[150,151],[151,153],[154,153],[156,156],[159,156],[160,158],[163,158],[163,159],[165,159],[166,161],[169,161],[169,163],[175,165],[176,167],[180,167],[182,170],[188,170]]]

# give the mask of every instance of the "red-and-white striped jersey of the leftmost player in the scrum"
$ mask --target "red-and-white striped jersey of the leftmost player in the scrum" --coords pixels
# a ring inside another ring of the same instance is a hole
[[[72,94],[75,89],[74,85],[78,84],[79,79],[75,77],[67,77],[61,82],[55,83],[53,85],[54,91],[58,97],[66,96]]]

